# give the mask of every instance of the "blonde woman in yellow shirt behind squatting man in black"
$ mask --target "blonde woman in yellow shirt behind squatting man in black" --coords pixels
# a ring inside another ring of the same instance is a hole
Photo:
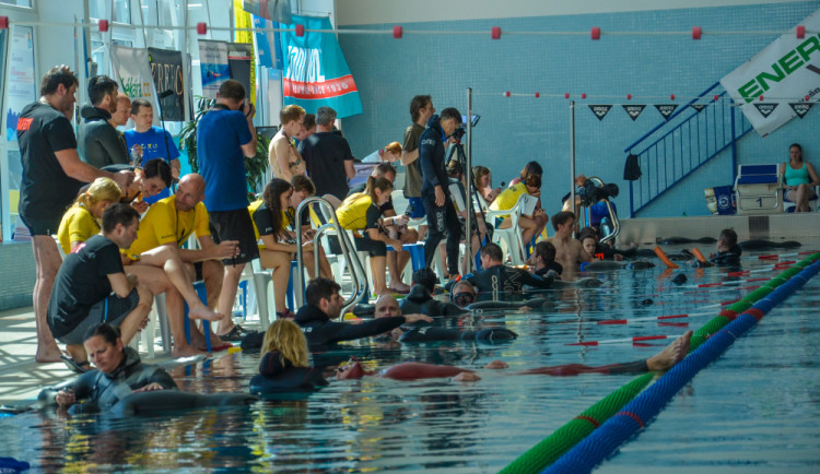
[[[113,203],[119,202],[119,186],[108,178],[97,178],[87,190],[81,191],[74,205],[63,214],[57,229],[62,252],[69,254],[91,236],[99,234],[103,212]]]

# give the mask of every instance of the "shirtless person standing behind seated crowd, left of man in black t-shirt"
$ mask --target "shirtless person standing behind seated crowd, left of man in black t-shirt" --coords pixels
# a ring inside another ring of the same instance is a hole
[[[293,141],[302,132],[305,109],[297,105],[288,105],[279,112],[282,127],[268,146],[268,159],[273,177],[290,181],[295,175],[304,175],[306,165]]]

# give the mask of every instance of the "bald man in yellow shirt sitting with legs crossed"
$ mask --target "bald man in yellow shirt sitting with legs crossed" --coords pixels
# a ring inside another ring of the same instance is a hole
[[[238,244],[234,240],[213,242],[208,227],[208,211],[202,203],[204,181],[197,174],[179,180],[176,193],[151,205],[140,222],[137,240],[124,250],[126,273],[139,276],[140,281],[154,285],[154,294],[166,293],[166,305],[171,331],[174,334],[174,357],[196,355],[200,352],[188,345],[185,339],[184,303],[188,303],[190,318],[220,320],[224,318],[212,311],[219,299],[222,282],[221,259],[236,256]],[[201,249],[184,250],[181,246],[196,233]],[[196,272],[194,262],[202,262],[202,276],[208,292],[206,306],[191,284]],[[157,272],[159,270],[159,272]],[[230,315],[229,315],[230,316]],[[191,328],[191,344],[202,346],[204,337]],[[230,345],[212,335],[214,348]]]

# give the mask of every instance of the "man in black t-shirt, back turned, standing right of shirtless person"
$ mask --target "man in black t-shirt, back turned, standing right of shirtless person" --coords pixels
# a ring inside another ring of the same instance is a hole
[[[316,110],[316,133],[298,144],[302,158],[307,163],[307,176],[316,186],[318,195],[332,194],[344,200],[348,179],[355,176],[350,144],[333,131],[336,110],[319,107]]]

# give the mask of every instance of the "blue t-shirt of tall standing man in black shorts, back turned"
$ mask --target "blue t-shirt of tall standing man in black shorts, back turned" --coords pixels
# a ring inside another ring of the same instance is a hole
[[[235,211],[248,206],[245,155],[242,145],[250,143],[245,114],[213,109],[199,121],[197,157],[206,181],[208,211]]]

